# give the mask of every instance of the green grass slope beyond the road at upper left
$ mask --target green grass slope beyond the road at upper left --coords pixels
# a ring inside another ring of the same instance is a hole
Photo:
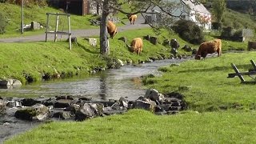
[[[22,12],[21,6],[9,4],[9,3],[0,3],[0,12],[6,17],[8,22],[6,26],[6,33],[0,34],[0,38],[10,38],[10,37],[20,37],[34,34],[42,34],[45,29],[42,30],[33,30],[33,31],[25,31],[24,34],[21,34],[19,28],[22,22]],[[24,7],[24,24],[30,24],[32,21],[40,22],[42,26],[46,26],[46,13],[62,13],[60,10],[56,10],[54,8],[45,6],[25,6]],[[121,22],[118,23],[118,26],[122,26],[122,23],[127,22],[127,18],[124,14],[118,13],[116,15]],[[71,30],[78,29],[97,29],[99,26],[91,26],[90,19],[98,18],[98,16],[94,15],[74,15],[70,16]],[[54,30],[55,28],[56,17],[54,15],[50,15],[50,30]],[[58,30],[67,30],[68,28],[68,20],[65,16],[59,17],[59,26]]]

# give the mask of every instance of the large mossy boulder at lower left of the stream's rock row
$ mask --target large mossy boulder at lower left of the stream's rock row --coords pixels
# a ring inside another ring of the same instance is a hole
[[[29,121],[42,121],[49,118],[49,109],[42,104],[35,104],[34,106],[24,107],[17,110],[14,114],[15,118],[29,120]]]

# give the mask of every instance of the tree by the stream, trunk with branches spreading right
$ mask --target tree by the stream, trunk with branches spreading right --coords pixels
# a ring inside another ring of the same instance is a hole
[[[97,6],[101,6],[102,18],[100,24],[100,53],[109,54],[110,46],[107,38],[106,22],[111,13],[121,12],[122,14],[142,14],[147,13],[147,10],[154,6],[158,6],[162,13],[160,17],[164,17],[166,21],[170,21],[171,18],[180,18],[182,15],[174,15],[174,10],[177,10],[178,2],[171,0],[96,0]],[[130,3],[130,11],[125,11],[122,6],[127,2]],[[166,18],[168,16],[168,18]],[[165,27],[170,23],[159,22],[159,27]],[[163,26],[163,23],[165,26]],[[153,26],[152,26],[153,27]],[[158,27],[158,29],[159,29]]]

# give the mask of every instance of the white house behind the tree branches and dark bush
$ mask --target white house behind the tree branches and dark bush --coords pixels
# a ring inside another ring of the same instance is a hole
[[[211,14],[202,3],[194,2],[194,0],[163,0],[165,2],[174,2],[174,6],[171,9],[166,9],[174,15],[174,19],[180,18],[195,22],[198,26],[204,30],[211,29]],[[158,6],[151,7],[146,14],[147,22],[158,22],[158,14],[164,14]]]

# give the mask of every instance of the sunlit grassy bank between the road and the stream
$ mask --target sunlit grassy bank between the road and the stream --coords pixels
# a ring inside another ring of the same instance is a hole
[[[56,74],[89,74],[91,70],[107,68],[114,59],[138,63],[149,58],[170,58],[170,48],[162,44],[153,45],[144,40],[142,54],[138,56],[131,53],[124,42],[118,40],[126,36],[128,42],[131,42],[132,38],[142,38],[147,34],[154,35],[154,32],[143,29],[118,33],[114,39],[110,39],[109,58],[100,56],[99,42],[93,47],[84,38],[78,38],[78,46],[74,45],[72,50],[69,50],[68,42],[1,43],[0,78],[18,78],[22,83],[36,82],[40,81],[44,74],[52,77]],[[161,42],[168,38],[168,34],[163,33],[158,38]]]

